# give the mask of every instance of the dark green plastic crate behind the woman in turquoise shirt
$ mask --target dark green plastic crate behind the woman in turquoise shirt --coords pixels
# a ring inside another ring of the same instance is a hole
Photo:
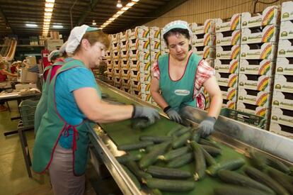
[[[25,99],[19,104],[21,120],[23,126],[33,126],[35,122],[35,108],[37,108],[38,100]]]

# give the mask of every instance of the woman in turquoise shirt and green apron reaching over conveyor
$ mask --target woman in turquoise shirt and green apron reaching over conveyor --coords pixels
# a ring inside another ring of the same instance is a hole
[[[83,194],[88,158],[89,123],[128,118],[159,118],[154,108],[105,103],[91,72],[110,45],[108,35],[86,25],[71,30],[66,52],[72,60],[58,69],[47,98],[47,111],[35,138],[33,170],[49,169],[54,194]]]

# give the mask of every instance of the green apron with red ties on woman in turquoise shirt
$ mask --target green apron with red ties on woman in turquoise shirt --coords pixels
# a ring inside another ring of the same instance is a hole
[[[54,155],[55,147],[59,142],[61,135],[68,135],[69,130],[73,131],[72,154],[73,154],[73,172],[79,176],[84,174],[88,160],[88,126],[89,121],[84,119],[79,125],[72,126],[68,124],[57,111],[55,99],[55,84],[58,74],[75,67],[86,68],[84,63],[79,60],[66,62],[58,69],[57,74],[53,77],[47,96],[47,111],[42,117],[40,128],[35,138],[33,147],[33,170],[38,173],[45,172],[50,166]],[[96,90],[101,96],[100,89],[96,85]],[[52,101],[53,100],[53,101]]]

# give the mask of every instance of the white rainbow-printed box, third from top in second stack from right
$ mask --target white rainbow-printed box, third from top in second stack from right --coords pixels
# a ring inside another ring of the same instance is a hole
[[[277,43],[255,43],[241,45],[241,59],[269,59],[275,60]]]

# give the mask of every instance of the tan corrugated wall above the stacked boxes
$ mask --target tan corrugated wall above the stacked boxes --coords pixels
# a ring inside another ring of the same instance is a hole
[[[273,0],[261,0],[272,2]],[[288,0],[280,0],[275,4],[256,4],[255,12],[263,11],[266,7],[280,5]],[[234,13],[253,12],[253,0],[189,0],[176,9],[165,13],[160,18],[144,24],[145,26],[159,26],[163,28],[166,23],[183,20],[188,23],[204,23],[207,18],[231,18]]]

